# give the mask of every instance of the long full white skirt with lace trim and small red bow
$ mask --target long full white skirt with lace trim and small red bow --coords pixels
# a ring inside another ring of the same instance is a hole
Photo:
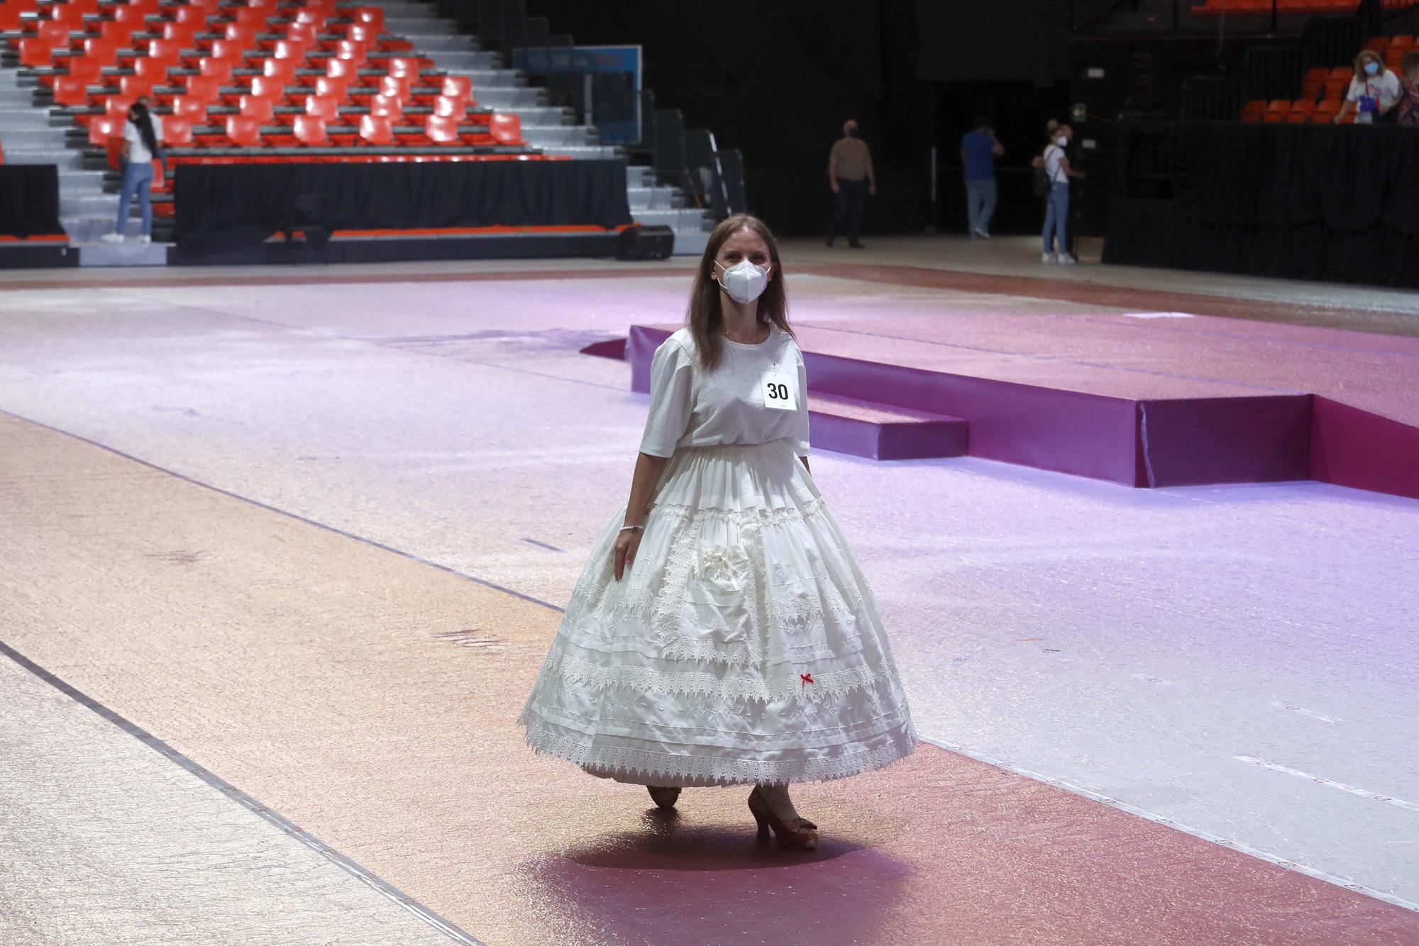
[[[912,752],[867,577],[789,441],[677,450],[616,581],[624,516],[518,716],[532,749],[681,787],[823,781]]]

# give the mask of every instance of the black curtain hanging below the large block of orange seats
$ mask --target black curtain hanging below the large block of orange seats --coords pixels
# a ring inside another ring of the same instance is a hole
[[[629,224],[622,160],[182,165],[175,241],[187,254],[302,230],[617,227]]]

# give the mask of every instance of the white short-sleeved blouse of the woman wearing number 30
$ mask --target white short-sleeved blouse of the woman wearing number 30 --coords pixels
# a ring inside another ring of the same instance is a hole
[[[759,345],[722,342],[724,359],[714,372],[700,367],[688,328],[656,349],[650,362],[650,417],[640,452],[670,457],[677,447],[788,438],[795,454],[807,457],[807,369],[792,336],[771,325],[769,338]],[[765,386],[782,380],[796,383],[793,410],[765,406]]]

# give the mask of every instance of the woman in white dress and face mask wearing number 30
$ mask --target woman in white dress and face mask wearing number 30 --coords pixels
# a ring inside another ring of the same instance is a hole
[[[735,214],[651,359],[630,499],[597,538],[518,716],[539,753],[646,784],[753,784],[758,837],[817,845],[795,781],[915,747],[867,577],[809,472],[807,373],[778,247]]]

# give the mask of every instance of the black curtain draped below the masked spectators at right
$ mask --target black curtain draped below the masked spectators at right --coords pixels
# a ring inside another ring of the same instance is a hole
[[[1419,129],[1171,122],[1124,139],[1104,262],[1419,286]]]

